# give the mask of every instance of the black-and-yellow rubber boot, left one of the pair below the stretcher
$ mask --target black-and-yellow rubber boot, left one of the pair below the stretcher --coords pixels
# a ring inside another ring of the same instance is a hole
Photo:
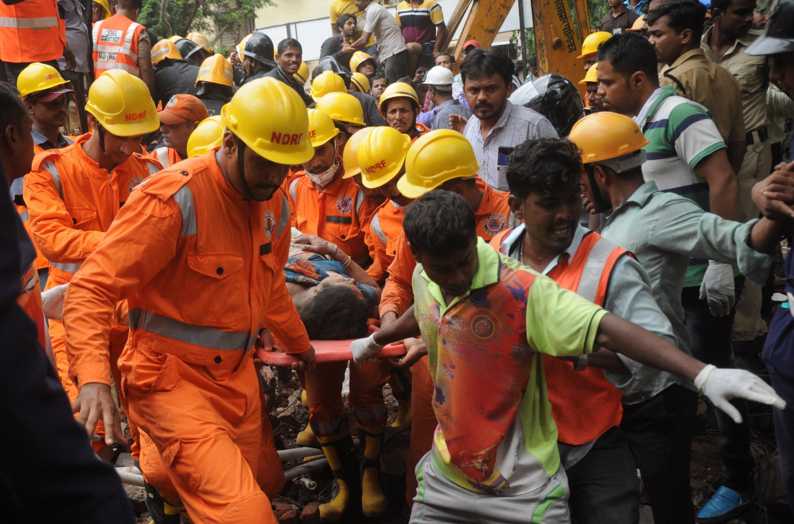
[[[361,495],[356,446],[349,433],[341,438],[338,436],[319,438],[319,441],[333,471],[333,479],[339,488],[330,503],[320,506],[320,520],[341,522],[350,506],[350,500],[356,500]]]

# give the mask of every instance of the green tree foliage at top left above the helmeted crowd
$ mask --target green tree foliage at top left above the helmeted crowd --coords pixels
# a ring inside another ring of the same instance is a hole
[[[138,21],[158,38],[191,31],[214,35],[256,17],[256,10],[275,0],[144,0]]]

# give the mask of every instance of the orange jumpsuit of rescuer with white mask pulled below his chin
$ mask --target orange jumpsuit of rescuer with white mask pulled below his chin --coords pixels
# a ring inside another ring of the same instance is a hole
[[[342,165],[340,156],[337,162]],[[360,266],[366,266],[369,250],[364,243],[364,192],[353,178],[342,178],[343,174],[344,168],[321,193],[306,171],[296,173],[290,183],[292,225],[306,235],[336,244]]]

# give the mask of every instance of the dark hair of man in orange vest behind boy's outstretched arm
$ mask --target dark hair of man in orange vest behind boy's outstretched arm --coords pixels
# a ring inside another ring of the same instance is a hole
[[[569,140],[541,138],[526,140],[513,151],[507,164],[507,187],[518,200],[530,193],[546,196],[580,184],[582,160]]]

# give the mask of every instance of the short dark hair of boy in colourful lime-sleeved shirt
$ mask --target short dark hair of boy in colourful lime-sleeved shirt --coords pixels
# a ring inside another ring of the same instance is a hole
[[[464,197],[436,189],[407,208],[403,231],[412,251],[445,257],[476,238],[477,223]]]

